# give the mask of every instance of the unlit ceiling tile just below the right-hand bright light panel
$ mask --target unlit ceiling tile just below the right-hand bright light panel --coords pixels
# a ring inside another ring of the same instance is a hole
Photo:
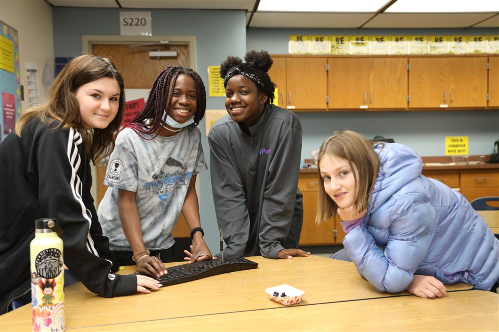
[[[383,13],[365,28],[451,28],[469,27],[490,17],[490,13]]]

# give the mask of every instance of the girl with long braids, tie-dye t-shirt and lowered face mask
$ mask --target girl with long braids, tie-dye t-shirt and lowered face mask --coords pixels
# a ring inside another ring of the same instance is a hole
[[[201,131],[206,91],[190,68],[163,69],[149,98],[116,138],[98,215],[121,265],[160,277],[173,262],[171,234],[180,212],[191,229],[188,263],[211,259],[200,227],[196,174],[206,170]],[[157,256],[157,257],[155,257]]]

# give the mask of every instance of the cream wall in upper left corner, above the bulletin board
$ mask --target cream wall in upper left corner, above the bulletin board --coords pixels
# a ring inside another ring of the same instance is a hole
[[[0,20],[18,32],[20,79],[24,87],[21,110],[24,111],[29,107],[26,62],[38,65],[40,102],[45,101],[48,95],[41,82],[45,64],[53,78],[52,8],[43,0],[0,0]]]

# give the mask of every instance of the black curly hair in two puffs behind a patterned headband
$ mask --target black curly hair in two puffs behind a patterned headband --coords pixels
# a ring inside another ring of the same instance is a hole
[[[255,75],[260,79],[262,85],[257,82],[255,82],[255,85],[258,87],[259,92],[263,92],[267,96],[266,103],[272,103],[274,101],[276,85],[272,82],[267,73],[274,62],[272,57],[267,51],[261,50],[260,52],[257,52],[252,50],[245,54],[244,60],[247,64],[244,66],[244,72]],[[220,77],[225,78],[230,71],[238,68],[242,63],[243,61],[241,58],[237,56],[228,56],[227,59],[220,64]]]

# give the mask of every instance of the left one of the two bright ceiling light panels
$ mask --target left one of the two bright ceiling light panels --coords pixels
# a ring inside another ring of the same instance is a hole
[[[387,0],[260,0],[258,11],[376,12]]]

